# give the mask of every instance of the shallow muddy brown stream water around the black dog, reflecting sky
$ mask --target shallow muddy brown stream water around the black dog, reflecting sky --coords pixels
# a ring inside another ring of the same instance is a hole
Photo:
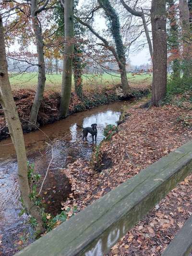
[[[82,131],[76,124],[86,127],[97,123],[98,145],[103,139],[106,124],[115,124],[119,120],[122,107],[131,107],[132,104],[134,102],[121,101],[96,107],[48,124],[42,131],[24,134],[28,160],[35,163],[35,169],[42,177],[45,176],[52,156],[52,149],[48,144],[53,145],[54,159],[42,191],[48,211],[57,214],[60,201],[65,200],[70,193],[71,185],[68,178],[63,175],[62,169],[76,158],[88,160],[96,146],[96,143],[92,144],[91,136],[87,137],[87,142],[82,141]],[[0,240],[6,244],[6,255],[12,255],[12,241],[21,239],[18,234],[21,233],[22,236],[24,231],[27,234],[31,232],[29,224],[24,224],[27,217],[19,217],[19,197],[15,151],[11,139],[6,139],[0,142]]]

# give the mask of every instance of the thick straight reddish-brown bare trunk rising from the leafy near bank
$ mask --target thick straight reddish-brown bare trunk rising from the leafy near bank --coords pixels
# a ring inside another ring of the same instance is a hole
[[[166,0],[152,0],[151,25],[153,37],[152,106],[160,106],[166,96],[167,35]]]

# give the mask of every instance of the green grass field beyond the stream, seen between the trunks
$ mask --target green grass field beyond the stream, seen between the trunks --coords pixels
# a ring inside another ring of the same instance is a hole
[[[152,80],[150,74],[139,74],[132,76],[128,73],[129,83],[132,87],[149,85]],[[46,90],[60,91],[62,74],[46,75]],[[12,89],[30,88],[35,89],[37,85],[37,73],[11,74],[10,82]],[[72,82],[74,86],[74,81]],[[120,84],[120,75],[113,74],[83,74],[84,89],[93,90],[101,87],[111,87]]]

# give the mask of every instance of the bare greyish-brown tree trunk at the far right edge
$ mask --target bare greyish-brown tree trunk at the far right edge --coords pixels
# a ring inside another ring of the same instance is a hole
[[[182,56],[183,56],[183,78],[188,78],[192,74],[191,46],[190,46],[190,21],[189,7],[187,0],[179,0],[180,25],[182,30]]]

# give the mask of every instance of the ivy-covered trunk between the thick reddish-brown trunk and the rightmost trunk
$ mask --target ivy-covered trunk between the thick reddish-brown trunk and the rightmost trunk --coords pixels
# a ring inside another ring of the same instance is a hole
[[[173,55],[178,55],[180,53],[179,44],[179,27],[176,18],[176,7],[175,0],[168,0],[168,19],[169,19],[169,31],[168,31],[168,49]],[[172,61],[172,75],[173,79],[180,78],[180,61],[178,58],[174,58]]]

